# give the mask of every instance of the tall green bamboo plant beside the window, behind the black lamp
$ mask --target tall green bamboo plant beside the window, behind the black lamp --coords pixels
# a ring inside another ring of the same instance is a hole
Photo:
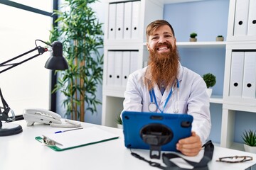
[[[53,92],[60,91],[65,96],[65,116],[82,122],[86,112],[97,113],[97,105],[101,104],[97,86],[102,84],[103,76],[103,31],[90,7],[95,1],[65,0],[60,11],[53,13],[58,16],[58,26],[50,34],[53,40],[63,40],[63,52],[70,67],[58,73]]]

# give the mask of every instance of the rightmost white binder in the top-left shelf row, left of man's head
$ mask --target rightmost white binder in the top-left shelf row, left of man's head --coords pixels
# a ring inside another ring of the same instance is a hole
[[[139,38],[139,6],[140,1],[132,2],[132,39]]]

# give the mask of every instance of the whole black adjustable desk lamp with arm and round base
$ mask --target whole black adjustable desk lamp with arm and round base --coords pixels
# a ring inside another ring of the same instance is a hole
[[[63,57],[63,45],[61,42],[55,41],[50,45],[47,42],[44,42],[42,40],[35,40],[35,44],[36,44],[36,41],[41,41],[46,45],[49,45],[50,47],[52,47],[53,52],[45,64],[46,69],[53,69],[53,70],[68,69],[68,62]],[[10,62],[18,59],[19,57],[22,57],[23,55],[27,55],[28,53],[33,52],[35,50],[38,50],[37,55],[33,55],[32,57],[29,57],[26,60],[23,60],[21,62],[10,64]],[[7,68],[1,70],[0,74],[3,72],[6,72],[9,69],[12,69],[13,67],[18,66],[19,64],[22,64],[24,62],[27,62],[28,60],[38,57],[39,55],[43,55],[43,53],[47,51],[48,51],[48,48],[36,45],[36,47],[33,50],[29,50],[28,52],[18,55],[17,57],[12,58],[11,60],[2,62],[0,64],[0,67],[7,67]],[[14,115],[14,111],[12,111],[11,108],[9,108],[8,104],[4,100],[4,97],[1,93],[1,89],[0,89],[0,97],[3,104],[3,107],[0,107],[0,136],[9,136],[9,135],[15,135],[15,134],[21,133],[23,131],[21,125],[8,123],[10,121],[15,120],[15,115]],[[1,109],[3,109],[4,111],[1,111]],[[11,112],[12,114],[12,119],[9,118],[9,115],[8,115],[9,112]],[[6,123],[2,123],[2,120],[6,121]]]

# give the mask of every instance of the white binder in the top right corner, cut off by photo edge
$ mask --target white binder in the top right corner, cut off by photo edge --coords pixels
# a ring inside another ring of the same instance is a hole
[[[247,35],[256,35],[256,0],[250,0]]]

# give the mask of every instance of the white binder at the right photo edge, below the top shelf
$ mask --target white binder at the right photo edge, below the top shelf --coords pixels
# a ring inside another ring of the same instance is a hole
[[[245,52],[242,98],[255,98],[256,93],[256,52]]]

